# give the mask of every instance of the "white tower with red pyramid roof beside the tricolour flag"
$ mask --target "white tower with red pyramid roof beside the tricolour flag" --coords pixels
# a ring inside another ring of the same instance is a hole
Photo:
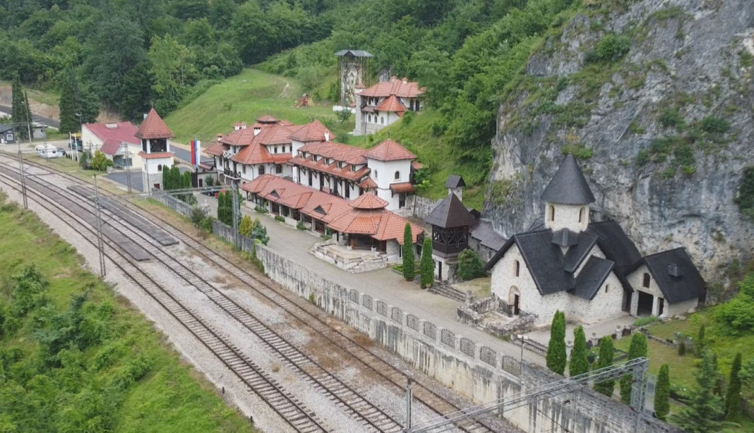
[[[162,172],[173,166],[173,152],[170,151],[169,139],[174,138],[175,135],[167,127],[160,114],[157,114],[155,108],[149,110],[139,130],[133,135],[141,140],[142,150],[139,156],[144,161],[142,181],[145,190],[162,188]]]

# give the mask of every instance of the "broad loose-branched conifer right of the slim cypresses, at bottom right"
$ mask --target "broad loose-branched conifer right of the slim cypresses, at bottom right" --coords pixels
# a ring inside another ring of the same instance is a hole
[[[715,394],[718,373],[713,355],[706,352],[697,371],[697,383],[691,389],[688,405],[682,407],[670,420],[688,433],[710,433],[720,431],[725,415],[722,398]]]

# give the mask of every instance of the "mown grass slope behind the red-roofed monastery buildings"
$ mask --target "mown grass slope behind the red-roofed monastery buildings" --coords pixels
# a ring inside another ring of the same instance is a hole
[[[256,69],[243,72],[210,87],[188,105],[178,108],[164,118],[176,141],[188,143],[198,138],[206,145],[217,133],[233,130],[233,123],[254,120],[269,112],[278,119],[300,124],[319,119],[332,126],[338,136],[339,130],[354,129],[354,117],[348,125],[339,127],[333,105],[326,101],[314,101],[308,108],[294,108],[303,93],[299,82],[293,78],[266,74]]]

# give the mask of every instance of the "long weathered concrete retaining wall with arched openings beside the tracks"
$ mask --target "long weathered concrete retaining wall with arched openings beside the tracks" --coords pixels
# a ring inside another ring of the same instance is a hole
[[[259,246],[257,257],[268,276],[280,285],[301,297],[313,294],[315,303],[329,314],[475,401],[494,401],[562,379],[544,368],[522,365],[516,358],[406,314],[384,300],[349,291],[266,247]],[[589,389],[578,395],[541,398],[506,411],[505,416],[524,431],[535,433],[562,431],[559,425],[587,433],[636,431],[636,416],[630,407]],[[679,430],[656,419],[645,419],[638,431]]]

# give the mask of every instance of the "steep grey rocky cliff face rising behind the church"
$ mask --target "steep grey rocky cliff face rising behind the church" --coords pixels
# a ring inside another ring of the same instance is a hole
[[[722,276],[754,245],[734,203],[754,163],[754,2],[591,3],[499,108],[485,213],[506,236],[526,230],[570,150],[593,221],[618,221],[645,255],[685,246]]]

